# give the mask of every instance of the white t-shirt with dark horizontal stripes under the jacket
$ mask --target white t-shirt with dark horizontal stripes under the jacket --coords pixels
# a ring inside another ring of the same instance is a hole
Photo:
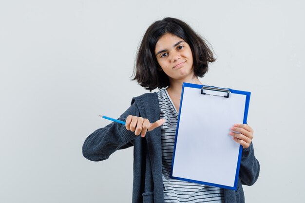
[[[224,192],[219,187],[171,179],[172,154],[175,143],[178,113],[166,89],[158,91],[161,126],[162,177],[165,203],[224,203]]]

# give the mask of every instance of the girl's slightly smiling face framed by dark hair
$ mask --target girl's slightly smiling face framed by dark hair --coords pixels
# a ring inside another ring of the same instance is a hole
[[[154,53],[170,82],[194,77],[191,47],[182,38],[166,33],[157,41]]]

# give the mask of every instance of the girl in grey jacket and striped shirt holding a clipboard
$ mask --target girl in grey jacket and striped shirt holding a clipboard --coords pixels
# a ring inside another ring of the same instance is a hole
[[[245,202],[242,184],[253,185],[259,175],[253,130],[246,124],[235,124],[231,130],[240,133],[229,133],[243,146],[236,191],[170,178],[182,83],[201,84],[198,77],[207,73],[213,61],[203,38],[179,19],[164,18],[147,29],[133,79],[147,90],[160,90],[133,98],[119,118],[126,121],[125,126],[111,123],[97,129],[83,145],[83,155],[92,161],[133,146],[133,203]]]

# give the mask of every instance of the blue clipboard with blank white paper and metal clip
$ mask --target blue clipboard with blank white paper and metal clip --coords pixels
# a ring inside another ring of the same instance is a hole
[[[229,131],[247,123],[250,94],[183,83],[171,178],[237,190],[243,147]]]

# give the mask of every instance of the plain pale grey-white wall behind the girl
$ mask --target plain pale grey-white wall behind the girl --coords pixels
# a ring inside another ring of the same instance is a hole
[[[203,84],[252,92],[261,173],[247,203],[302,202],[303,0],[1,0],[0,202],[128,203],[133,148],[83,158],[86,137],[145,91],[131,81],[148,26],[181,18],[217,60]]]

